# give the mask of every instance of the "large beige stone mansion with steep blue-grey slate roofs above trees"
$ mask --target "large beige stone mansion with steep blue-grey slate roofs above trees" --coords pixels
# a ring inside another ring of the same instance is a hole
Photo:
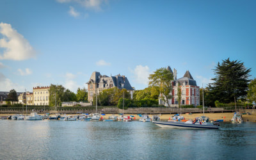
[[[92,76],[86,84],[88,84],[88,102],[93,101],[93,95],[96,93],[96,90],[97,93],[100,93],[102,90],[113,87],[116,87],[119,90],[125,88],[128,92],[131,93],[131,95],[134,90],[127,77],[120,76],[120,74],[108,77],[106,75],[100,75],[100,72],[93,72]]]

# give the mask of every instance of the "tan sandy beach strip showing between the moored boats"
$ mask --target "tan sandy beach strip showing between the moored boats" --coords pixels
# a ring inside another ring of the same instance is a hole
[[[0,114],[0,116],[10,116],[10,115],[14,115],[14,114],[2,114],[2,113]],[[44,114],[38,114],[38,115],[44,115]],[[79,115],[79,114],[67,114],[67,115]],[[108,117],[111,115],[113,114],[102,115],[102,118],[108,119]],[[115,115],[118,115],[118,114],[115,114]],[[134,114],[124,114],[124,115],[126,116],[132,115],[134,116],[135,120],[140,119],[139,115],[134,115]],[[150,118],[153,115],[159,115],[159,114],[151,114],[149,115]],[[170,118],[172,118],[173,115],[175,114],[160,115],[160,120],[169,120]],[[204,115],[208,116],[209,120],[223,120],[224,122],[230,122],[234,113],[205,113]],[[203,113],[193,113],[191,115],[188,115],[185,113],[185,114],[182,114],[182,116],[184,116],[185,119],[193,120],[195,117],[203,116]],[[242,115],[242,118],[244,122],[256,122],[256,115]]]

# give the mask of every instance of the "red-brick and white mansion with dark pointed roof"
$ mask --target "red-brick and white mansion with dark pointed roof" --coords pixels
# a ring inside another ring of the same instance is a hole
[[[191,76],[190,72],[187,70],[183,77],[177,79],[177,70],[171,69],[170,66],[166,68],[170,70],[173,74],[173,90],[172,90],[172,99],[168,99],[170,106],[178,106],[178,87],[181,91],[181,102],[183,105],[200,105],[200,87],[196,85],[196,81]],[[159,99],[159,104],[168,106],[167,103],[164,103],[163,100]]]

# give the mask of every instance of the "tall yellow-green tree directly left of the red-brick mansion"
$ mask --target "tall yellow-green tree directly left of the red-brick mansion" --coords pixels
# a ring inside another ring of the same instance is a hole
[[[150,74],[148,79],[150,80],[148,85],[154,87],[160,93],[160,99],[170,107],[168,99],[172,99],[172,72],[166,68],[159,68],[154,74]]]

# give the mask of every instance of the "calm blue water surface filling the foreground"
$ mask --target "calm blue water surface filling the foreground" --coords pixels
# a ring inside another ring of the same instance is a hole
[[[219,130],[151,122],[0,120],[0,159],[256,159],[256,123]]]

